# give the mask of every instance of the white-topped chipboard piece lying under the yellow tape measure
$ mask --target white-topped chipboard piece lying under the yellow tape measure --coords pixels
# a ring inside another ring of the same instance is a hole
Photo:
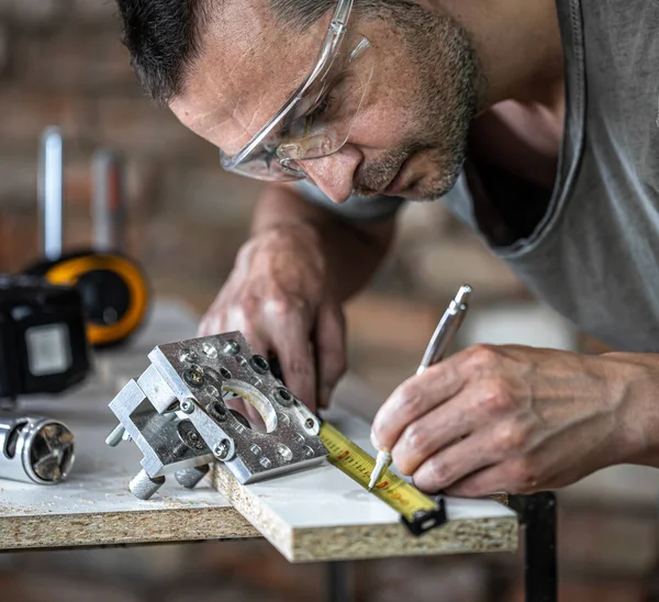
[[[327,420],[375,454],[365,422],[343,411]],[[414,537],[393,510],[328,462],[249,486],[217,466],[213,483],[291,562],[502,551],[518,544],[516,514],[492,500],[448,498],[448,522]]]

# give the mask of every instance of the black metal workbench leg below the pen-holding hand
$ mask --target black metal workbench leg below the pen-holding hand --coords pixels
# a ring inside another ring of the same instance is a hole
[[[511,495],[510,505],[525,527],[525,600],[557,602],[556,497],[550,492]]]

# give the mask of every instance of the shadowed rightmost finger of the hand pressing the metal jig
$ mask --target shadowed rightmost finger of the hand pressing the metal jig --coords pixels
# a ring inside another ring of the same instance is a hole
[[[346,370],[345,321],[340,308],[323,303],[316,325],[317,405],[327,408],[332,390]]]

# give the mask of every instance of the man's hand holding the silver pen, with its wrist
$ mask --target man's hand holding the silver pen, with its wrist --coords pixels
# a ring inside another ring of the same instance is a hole
[[[646,453],[659,365],[640,357],[470,347],[401,384],[376,415],[373,444],[427,492],[563,487]]]

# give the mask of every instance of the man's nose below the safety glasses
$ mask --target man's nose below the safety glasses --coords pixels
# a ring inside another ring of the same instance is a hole
[[[343,203],[353,194],[355,171],[362,155],[354,146],[344,146],[337,153],[317,159],[301,160],[305,174],[335,203]]]

